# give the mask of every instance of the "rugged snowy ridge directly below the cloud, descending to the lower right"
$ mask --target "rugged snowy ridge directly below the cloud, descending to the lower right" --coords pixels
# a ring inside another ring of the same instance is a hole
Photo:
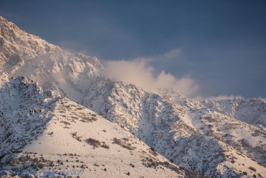
[[[214,110],[200,108],[200,104],[187,98],[176,104],[123,82],[114,83],[111,92],[102,91],[102,95],[97,95],[93,91],[90,96],[84,98],[84,101],[90,101],[84,103],[85,106],[128,128],[149,146],[156,148],[158,153],[168,159],[173,158],[174,163],[192,171],[206,176],[218,175],[218,165],[227,165],[217,155],[225,150],[234,157],[238,157],[241,151],[265,164],[266,129],[263,126],[254,126]],[[95,103],[97,105],[94,107]],[[101,108],[99,103],[102,104]],[[192,106],[200,109],[192,109]],[[209,141],[202,149],[200,144],[191,145],[192,138],[202,143]],[[187,151],[190,147],[194,149]],[[231,166],[227,168],[231,169]]]

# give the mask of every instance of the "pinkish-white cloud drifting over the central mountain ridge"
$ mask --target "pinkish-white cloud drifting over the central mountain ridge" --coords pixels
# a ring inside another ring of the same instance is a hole
[[[190,77],[189,74],[177,78],[171,73],[165,73],[164,70],[159,75],[155,75],[155,69],[149,64],[149,62],[157,60],[168,60],[171,58],[177,58],[180,54],[180,49],[173,49],[172,51],[163,55],[153,57],[139,57],[134,60],[125,61],[106,61],[105,75],[115,81],[123,81],[127,84],[135,84],[143,87],[146,90],[153,90],[157,88],[168,88],[180,90],[185,96],[194,98],[198,101],[202,100],[226,100],[233,98],[243,98],[239,95],[219,95],[203,97],[198,95],[200,90],[199,81]],[[179,60],[179,59],[178,59]]]

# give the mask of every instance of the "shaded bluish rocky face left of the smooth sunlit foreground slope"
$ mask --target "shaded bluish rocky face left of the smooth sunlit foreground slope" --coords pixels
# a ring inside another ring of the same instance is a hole
[[[49,90],[43,92],[31,79],[13,78],[2,68],[0,74],[0,151],[4,155],[34,139],[31,130],[41,128],[52,117],[51,105],[61,96]]]

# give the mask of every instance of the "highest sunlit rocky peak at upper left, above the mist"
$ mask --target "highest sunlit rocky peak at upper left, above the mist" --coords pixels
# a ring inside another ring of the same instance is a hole
[[[55,54],[58,57],[58,54],[62,53],[59,58],[64,58],[66,54],[74,56],[39,36],[20,30],[3,17],[0,18],[0,31],[0,65],[4,66],[6,71],[13,70],[15,65],[24,65],[25,62],[31,65],[30,61],[47,54]],[[98,70],[104,69],[96,57],[84,54],[78,54],[76,57],[84,63],[92,64]]]

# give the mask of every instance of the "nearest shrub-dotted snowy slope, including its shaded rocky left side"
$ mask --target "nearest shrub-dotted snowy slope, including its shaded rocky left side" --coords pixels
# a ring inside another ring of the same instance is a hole
[[[46,177],[44,170],[65,170],[68,176],[82,171],[83,177],[128,177],[128,172],[131,177],[202,177],[172,164],[92,110],[52,91],[43,92],[31,79],[13,79],[2,71],[1,83],[1,170],[35,172],[35,177]],[[17,105],[6,103],[15,100]]]

